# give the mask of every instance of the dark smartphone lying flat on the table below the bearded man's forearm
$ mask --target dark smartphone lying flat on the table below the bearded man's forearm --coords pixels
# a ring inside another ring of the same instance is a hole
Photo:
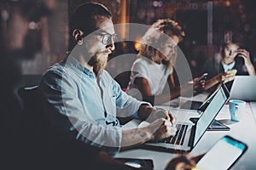
[[[135,159],[135,158],[116,158],[124,162],[126,166],[134,167],[141,170],[153,170],[153,160],[151,159]]]

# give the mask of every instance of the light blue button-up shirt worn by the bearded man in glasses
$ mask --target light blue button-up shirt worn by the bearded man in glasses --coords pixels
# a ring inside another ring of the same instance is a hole
[[[65,128],[77,130],[77,139],[107,150],[110,154],[119,151],[122,138],[116,117],[137,117],[140,105],[145,103],[125,94],[108,71],[102,71],[96,78],[93,72],[73,57],[51,66],[39,88],[47,103],[61,117],[68,117],[71,123],[66,123]],[[60,116],[51,118],[56,128],[63,127]]]

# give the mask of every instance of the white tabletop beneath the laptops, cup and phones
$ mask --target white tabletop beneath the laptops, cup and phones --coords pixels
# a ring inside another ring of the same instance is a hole
[[[254,105],[256,106],[256,105]],[[254,108],[255,109],[255,108]],[[256,111],[256,110],[253,110]],[[229,105],[224,105],[223,109],[218,113],[217,120],[224,122],[230,127],[230,131],[207,131],[195,148],[189,153],[189,156],[197,156],[207,152],[215,144],[218,139],[228,134],[236,139],[240,139],[248,145],[247,152],[241,156],[232,169],[255,169],[256,167],[256,125],[253,119],[252,105],[247,103],[247,109],[244,112],[240,122],[230,122]],[[189,115],[192,116],[193,114]],[[196,116],[196,113],[195,115]],[[182,116],[177,115],[177,119]],[[137,122],[129,122],[131,126],[136,126]],[[221,154],[221,153],[219,153]],[[153,150],[126,150],[120,152],[116,157],[152,159],[154,161],[154,169],[161,170],[166,167],[168,161],[176,154],[153,151]],[[216,156],[218,157],[218,156]],[[218,158],[217,158],[218,159]]]

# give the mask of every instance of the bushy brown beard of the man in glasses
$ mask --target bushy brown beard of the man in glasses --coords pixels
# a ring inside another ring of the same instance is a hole
[[[108,58],[103,60],[103,59],[100,59],[99,56],[94,55],[90,58],[88,64],[93,66],[93,71],[97,76],[98,74],[101,74],[102,71],[105,69],[107,62],[108,62]]]

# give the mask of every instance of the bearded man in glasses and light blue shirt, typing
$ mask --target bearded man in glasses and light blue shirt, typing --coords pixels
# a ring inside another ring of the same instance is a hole
[[[60,136],[81,140],[110,155],[175,135],[175,117],[170,111],[125,94],[104,70],[116,37],[108,8],[84,3],[74,12],[70,26],[72,51],[52,65],[39,84],[49,126]],[[118,116],[147,120],[149,125],[124,130]]]

